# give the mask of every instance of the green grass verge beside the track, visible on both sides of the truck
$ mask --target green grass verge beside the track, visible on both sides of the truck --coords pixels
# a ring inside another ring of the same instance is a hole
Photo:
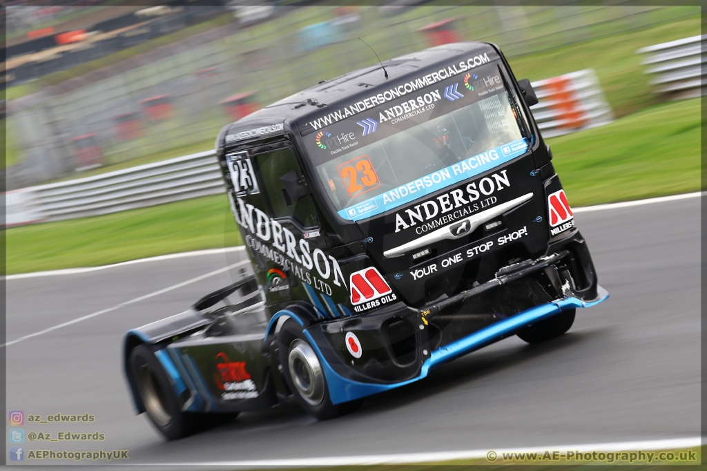
[[[585,206],[699,190],[700,131],[694,99],[655,105],[549,144],[571,204]],[[12,228],[6,237],[8,274],[241,243],[221,195]]]

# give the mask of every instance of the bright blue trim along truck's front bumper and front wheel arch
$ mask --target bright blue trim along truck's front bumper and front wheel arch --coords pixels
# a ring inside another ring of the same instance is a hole
[[[349,402],[351,400],[356,400],[360,397],[366,397],[376,394],[377,392],[383,392],[394,388],[399,388],[400,386],[404,386],[409,383],[414,383],[417,380],[425,378],[432,368],[439,366],[440,364],[446,363],[447,361],[456,359],[462,355],[465,355],[474,349],[483,347],[484,344],[488,344],[494,339],[498,339],[498,337],[503,337],[503,335],[509,334],[510,332],[513,332],[514,330],[517,330],[520,327],[532,324],[532,322],[536,322],[538,320],[549,318],[552,315],[560,313],[563,310],[585,307],[588,308],[590,306],[595,306],[609,298],[609,293],[607,293],[607,291],[601,286],[597,286],[597,293],[599,294],[599,296],[595,301],[590,301],[586,303],[578,298],[567,297],[564,299],[553,301],[551,303],[540,304],[539,306],[535,306],[534,308],[524,310],[522,313],[518,313],[513,317],[506,318],[504,320],[499,320],[495,324],[489,325],[489,327],[485,327],[484,329],[478,330],[477,332],[474,332],[471,335],[467,335],[467,337],[463,337],[462,339],[459,339],[456,342],[452,342],[451,344],[445,345],[444,347],[440,347],[435,351],[432,351],[430,357],[426,359],[426,361],[422,364],[419,376],[407,381],[402,381],[401,383],[358,383],[358,381],[352,381],[344,378],[343,376],[340,376],[339,373],[334,371],[334,369],[329,366],[324,355],[322,355],[322,351],[319,349],[319,346],[314,341],[310,333],[307,332],[306,329],[304,330],[304,333],[307,339],[310,341],[312,347],[314,347],[315,351],[317,352],[317,356],[319,356],[319,359],[322,363],[324,375],[325,378],[327,378],[329,397],[331,398],[332,403],[341,404],[341,402]],[[271,327],[275,324],[275,322],[285,315],[289,316],[293,320],[296,320],[296,322],[304,326],[303,320],[298,318],[295,313],[289,310],[281,310],[276,313],[273,318],[271,318],[267,326],[266,332],[269,333]]]

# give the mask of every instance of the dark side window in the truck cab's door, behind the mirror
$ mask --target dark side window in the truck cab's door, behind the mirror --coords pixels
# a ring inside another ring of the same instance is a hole
[[[256,174],[265,187],[273,217],[275,219],[291,217],[305,228],[319,226],[312,195],[308,194],[293,202],[280,180],[282,175],[291,170],[295,170],[298,177],[302,178],[300,166],[292,150],[278,149],[274,152],[261,153],[255,156],[255,161],[257,162]]]

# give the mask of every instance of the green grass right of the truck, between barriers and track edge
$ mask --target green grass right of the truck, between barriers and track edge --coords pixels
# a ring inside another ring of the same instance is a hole
[[[684,100],[549,139],[571,204],[699,191],[700,119],[700,100]]]

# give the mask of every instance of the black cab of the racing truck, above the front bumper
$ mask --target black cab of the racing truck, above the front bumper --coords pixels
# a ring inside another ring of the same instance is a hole
[[[218,136],[267,305],[306,301],[321,320],[422,308],[561,250],[575,293],[597,298],[551,153],[498,47],[444,45],[382,66]],[[542,297],[547,282],[528,289]]]

